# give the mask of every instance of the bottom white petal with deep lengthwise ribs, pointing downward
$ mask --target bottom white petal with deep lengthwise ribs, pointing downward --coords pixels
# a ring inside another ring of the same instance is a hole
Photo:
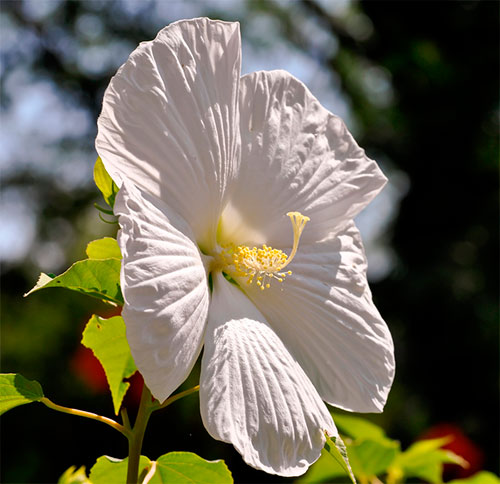
[[[203,422],[245,462],[282,476],[318,459],[337,430],[325,404],[265,318],[219,273],[200,379]]]

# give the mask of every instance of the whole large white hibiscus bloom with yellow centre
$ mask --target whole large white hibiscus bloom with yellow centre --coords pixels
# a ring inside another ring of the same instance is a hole
[[[393,380],[352,221],[386,179],[300,81],[240,77],[240,56],[238,23],[164,28],[111,80],[96,146],[121,187],[123,319],[146,384],[164,401],[204,347],[208,432],[296,476],[338,435],[323,400],[379,412]]]

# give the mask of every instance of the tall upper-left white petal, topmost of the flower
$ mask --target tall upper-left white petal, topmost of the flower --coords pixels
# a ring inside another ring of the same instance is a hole
[[[173,23],[143,42],[111,80],[96,148],[128,179],[189,221],[211,244],[239,160],[238,23]]]

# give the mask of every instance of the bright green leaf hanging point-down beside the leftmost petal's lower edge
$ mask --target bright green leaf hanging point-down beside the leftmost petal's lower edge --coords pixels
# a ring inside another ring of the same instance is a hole
[[[108,380],[113,407],[118,415],[120,406],[137,370],[125,334],[125,323],[121,316],[102,319],[93,315],[83,331],[82,344],[90,348],[100,361]]]

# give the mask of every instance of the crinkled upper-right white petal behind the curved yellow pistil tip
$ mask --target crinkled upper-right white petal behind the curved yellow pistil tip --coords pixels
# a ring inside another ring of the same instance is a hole
[[[299,211],[311,218],[304,241],[320,240],[384,186],[386,178],[344,122],[289,73],[243,76],[240,90],[242,161],[223,216],[224,238],[290,246],[285,214]]]

